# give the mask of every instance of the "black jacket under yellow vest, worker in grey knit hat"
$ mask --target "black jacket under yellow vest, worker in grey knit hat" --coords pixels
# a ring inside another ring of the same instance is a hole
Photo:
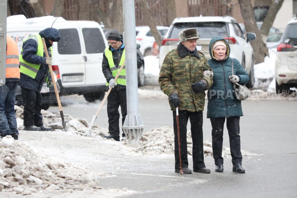
[[[112,56],[113,56],[113,62],[116,68],[119,67],[119,63],[121,61],[121,57],[123,54],[125,48],[121,48],[120,52],[118,52],[117,50],[115,51],[111,51],[112,52]],[[111,46],[109,46],[109,50],[111,50]],[[140,55],[137,53],[137,69],[139,69],[142,66],[142,59],[140,57]],[[103,60],[102,60],[102,72],[104,74],[104,77],[106,78],[107,82],[109,82],[110,79],[114,78],[110,68],[109,68],[109,64],[108,64],[108,60],[105,56],[105,52],[103,52]],[[117,87],[115,87],[117,90],[123,90],[126,89],[125,85],[117,85]]]

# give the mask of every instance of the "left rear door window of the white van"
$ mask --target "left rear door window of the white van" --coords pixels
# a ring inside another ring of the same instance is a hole
[[[59,32],[61,35],[58,42],[59,54],[81,54],[77,29],[59,29]]]

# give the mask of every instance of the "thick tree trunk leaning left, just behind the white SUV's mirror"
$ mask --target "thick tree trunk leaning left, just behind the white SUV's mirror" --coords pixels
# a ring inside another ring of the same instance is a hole
[[[244,26],[246,32],[254,32],[257,38],[251,41],[252,48],[254,50],[255,64],[264,62],[265,56],[269,56],[266,44],[263,42],[260,32],[257,28],[255,15],[252,7],[251,0],[238,0],[241,15],[244,20]]]

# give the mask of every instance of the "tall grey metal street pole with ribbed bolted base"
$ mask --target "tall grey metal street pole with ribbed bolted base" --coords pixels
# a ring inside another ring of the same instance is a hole
[[[143,134],[144,124],[138,113],[138,80],[135,34],[134,0],[123,0],[125,58],[127,82],[127,116],[123,129],[131,145],[137,146]]]

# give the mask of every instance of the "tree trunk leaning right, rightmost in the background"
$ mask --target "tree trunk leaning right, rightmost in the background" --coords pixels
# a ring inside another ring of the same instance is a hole
[[[263,25],[261,27],[261,35],[264,42],[266,42],[269,30],[274,22],[277,12],[282,7],[284,0],[273,0],[269,6],[267,15],[264,18]]]

